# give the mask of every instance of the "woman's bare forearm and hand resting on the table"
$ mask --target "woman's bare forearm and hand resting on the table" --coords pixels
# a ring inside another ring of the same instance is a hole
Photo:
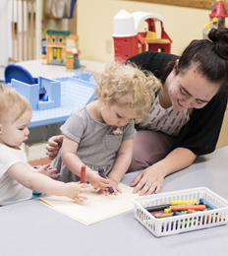
[[[150,195],[154,190],[155,193],[159,193],[165,176],[188,167],[196,158],[197,155],[188,149],[173,150],[165,159],[142,170],[131,184],[131,186],[137,185],[133,193],[138,193],[140,189],[142,189],[140,196]]]

